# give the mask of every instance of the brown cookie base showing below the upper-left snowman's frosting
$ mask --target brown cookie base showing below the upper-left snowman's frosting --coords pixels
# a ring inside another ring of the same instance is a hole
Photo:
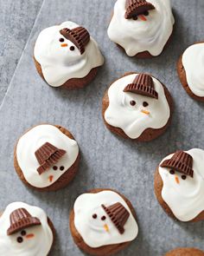
[[[42,74],[42,70],[41,70],[41,64],[39,62],[37,62],[35,60],[35,56],[34,56],[34,62],[35,62],[35,67],[39,73],[39,75],[41,75],[41,78],[47,82],[44,78],[44,75]],[[88,83],[92,82],[92,80],[95,78],[95,76],[97,75],[99,67],[92,69],[88,75],[86,75],[85,77],[82,78],[72,78],[67,80],[67,82],[63,83],[60,87],[61,88],[65,88],[65,89],[82,89],[84,88]],[[48,83],[48,82],[47,82]],[[50,85],[49,85],[50,86]]]

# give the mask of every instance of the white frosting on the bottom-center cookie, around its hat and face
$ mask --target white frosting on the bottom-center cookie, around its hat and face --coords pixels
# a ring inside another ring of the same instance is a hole
[[[124,233],[120,234],[112,223],[110,217],[101,207],[109,207],[120,202],[130,213],[129,219],[124,224]],[[138,226],[130,208],[123,198],[112,191],[102,191],[97,194],[81,194],[74,203],[74,226],[80,233],[86,245],[97,248],[99,246],[115,245],[134,240],[137,237]],[[97,214],[97,219],[92,218],[92,214]],[[105,220],[101,217],[105,216]],[[105,231],[105,224],[109,231]]]

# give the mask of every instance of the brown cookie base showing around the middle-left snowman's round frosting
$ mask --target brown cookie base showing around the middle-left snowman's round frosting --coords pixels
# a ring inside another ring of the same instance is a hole
[[[74,140],[73,135],[66,128],[62,128],[61,126],[58,126],[58,125],[55,125],[55,127],[59,128],[59,130],[61,130],[61,132],[64,135],[67,135],[67,137]],[[29,130],[26,131],[24,134],[29,132]],[[17,146],[17,143],[16,143],[16,146]],[[73,165],[71,167],[69,167],[68,170],[64,174],[62,174],[61,177],[57,181],[55,181],[51,186],[49,186],[49,187],[34,187],[34,186],[30,185],[28,181],[26,181],[26,179],[22,173],[22,169],[18,165],[18,161],[17,161],[17,157],[16,157],[16,147],[14,150],[14,167],[16,169],[16,173],[18,174],[18,176],[22,180],[22,182],[24,182],[29,187],[35,188],[38,191],[48,191],[49,192],[49,191],[56,191],[58,189],[66,187],[68,185],[68,183],[71,182],[73,180],[73,178],[75,177],[75,175],[77,174],[79,163],[80,163],[80,154],[78,154],[77,159],[74,161]]]

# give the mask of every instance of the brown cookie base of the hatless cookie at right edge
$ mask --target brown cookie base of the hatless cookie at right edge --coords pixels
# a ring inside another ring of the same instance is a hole
[[[199,42],[199,43],[204,43],[204,42]],[[196,43],[194,43],[194,44],[196,44]],[[194,95],[194,93],[188,86],[186,70],[184,69],[184,67],[182,65],[182,56],[180,56],[180,58],[177,62],[177,73],[178,73],[179,79],[182,83],[182,87],[186,90],[188,95],[196,101],[204,102],[204,97]]]

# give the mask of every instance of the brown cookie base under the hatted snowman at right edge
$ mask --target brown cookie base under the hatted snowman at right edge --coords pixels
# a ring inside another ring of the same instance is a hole
[[[168,215],[171,218],[176,219],[174,213],[172,213],[168,204],[163,200],[163,196],[162,196],[163,180],[162,180],[161,175],[159,174],[159,168],[158,167],[156,168],[156,173],[155,173],[154,188],[155,188],[156,198],[157,198],[158,202],[160,203],[160,205],[163,207],[163,210],[166,213],[168,213]],[[186,221],[186,222],[196,222],[196,221],[200,221],[200,220],[204,220],[204,211],[201,212],[198,216],[196,216],[193,220]]]

